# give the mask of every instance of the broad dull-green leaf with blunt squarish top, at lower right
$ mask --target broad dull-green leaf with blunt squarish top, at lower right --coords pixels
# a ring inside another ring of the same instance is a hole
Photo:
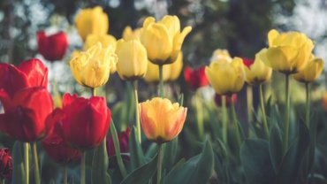
[[[240,160],[247,183],[270,184],[276,177],[270,162],[269,143],[260,139],[247,139],[240,147]]]

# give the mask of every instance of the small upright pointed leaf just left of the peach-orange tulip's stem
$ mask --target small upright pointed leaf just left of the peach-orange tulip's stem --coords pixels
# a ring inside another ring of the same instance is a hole
[[[129,150],[131,153],[132,170],[144,165],[145,158],[140,143],[137,141],[136,129],[133,126],[131,137],[129,139]]]

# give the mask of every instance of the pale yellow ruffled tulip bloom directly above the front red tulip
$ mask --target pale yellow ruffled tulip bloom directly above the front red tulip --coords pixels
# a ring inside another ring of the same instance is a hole
[[[70,61],[75,80],[89,88],[97,88],[107,82],[111,63],[117,63],[114,50],[111,47],[103,48],[100,42]]]

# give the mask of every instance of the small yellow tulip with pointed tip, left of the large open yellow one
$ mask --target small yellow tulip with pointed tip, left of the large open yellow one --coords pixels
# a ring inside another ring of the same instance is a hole
[[[261,50],[255,55],[255,62],[252,65],[248,67],[246,65],[244,66],[246,81],[250,85],[259,85],[271,78],[272,69],[264,65],[260,57],[264,50]]]

